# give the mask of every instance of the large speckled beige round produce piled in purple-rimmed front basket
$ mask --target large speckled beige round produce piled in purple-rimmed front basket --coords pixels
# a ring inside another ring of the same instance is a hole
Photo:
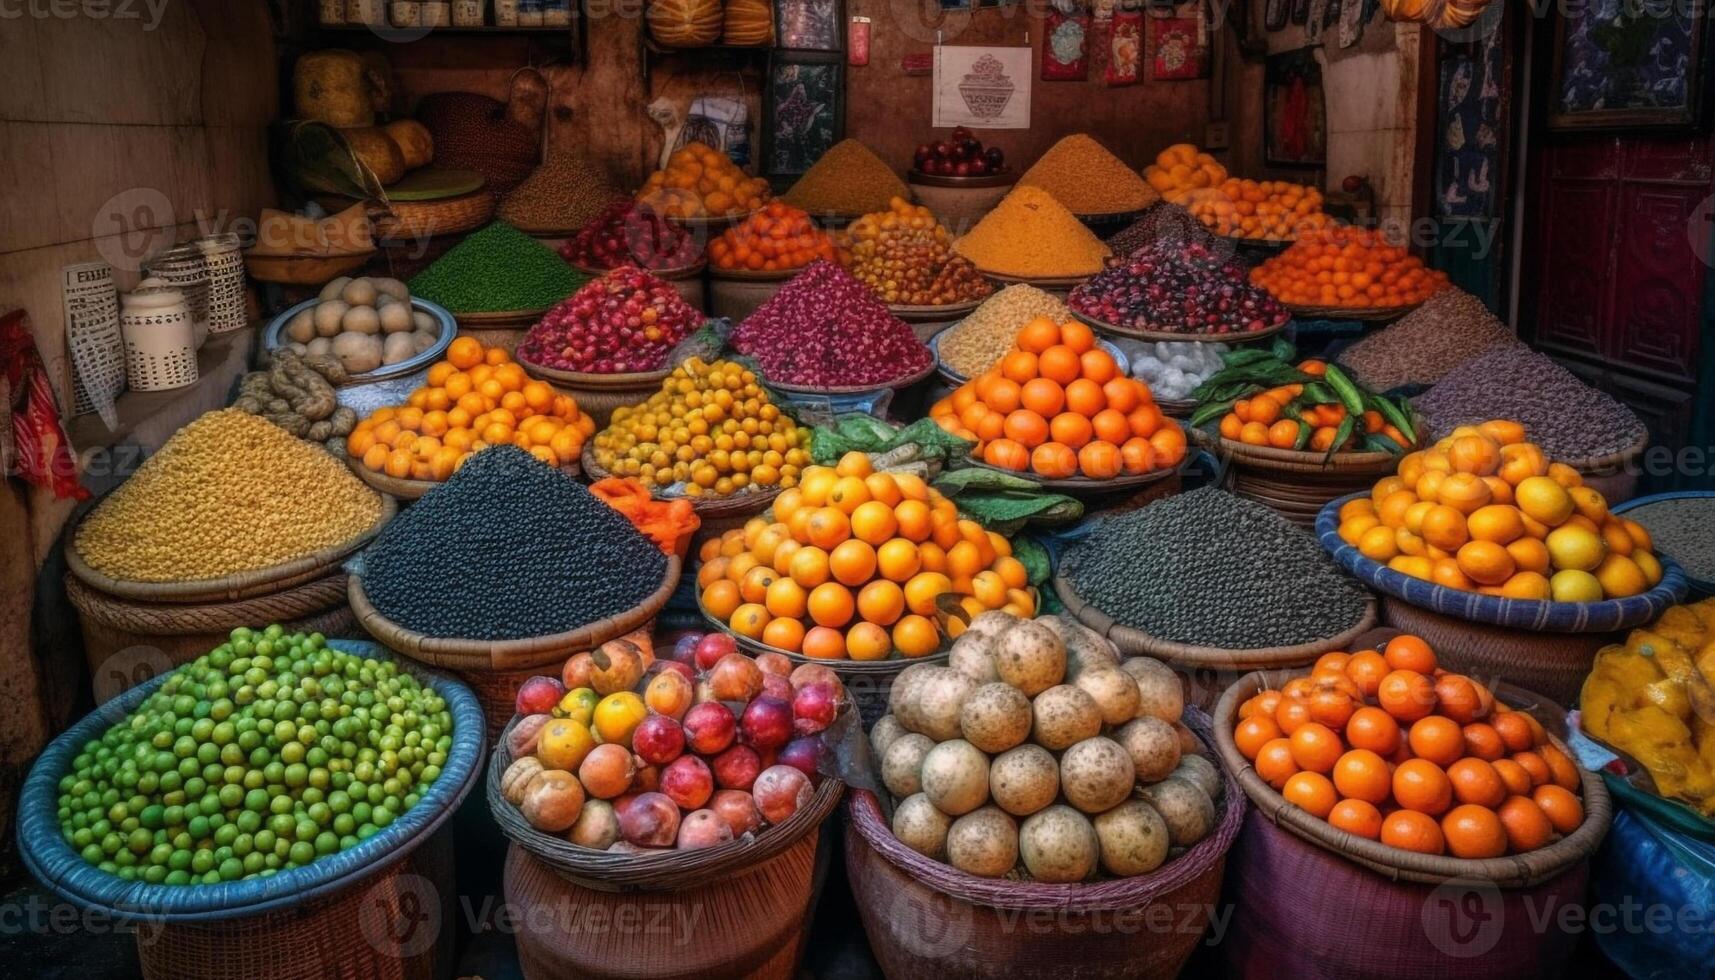
[[[900,671],[870,733],[894,834],[981,877],[1147,874],[1218,819],[1221,774],[1183,707],[1159,661],[1122,662],[1065,618],[983,613],[947,666]]]

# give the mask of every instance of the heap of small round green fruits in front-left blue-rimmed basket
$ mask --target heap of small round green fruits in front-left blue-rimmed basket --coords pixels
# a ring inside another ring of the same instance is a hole
[[[238,628],[72,759],[60,834],[125,880],[268,877],[401,817],[451,747],[446,702],[391,661]]]

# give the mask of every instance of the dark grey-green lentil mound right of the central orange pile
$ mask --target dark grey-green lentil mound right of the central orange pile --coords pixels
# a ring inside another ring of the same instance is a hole
[[[1214,487],[1099,520],[1060,572],[1116,623],[1228,650],[1339,635],[1365,604],[1310,532]]]

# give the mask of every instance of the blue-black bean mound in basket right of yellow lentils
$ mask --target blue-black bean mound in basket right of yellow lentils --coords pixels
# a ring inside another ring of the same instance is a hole
[[[516,640],[638,606],[667,556],[619,511],[520,450],[484,450],[364,553],[364,592],[429,637]]]

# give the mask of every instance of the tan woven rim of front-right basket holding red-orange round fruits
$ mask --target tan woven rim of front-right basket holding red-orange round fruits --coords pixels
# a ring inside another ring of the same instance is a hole
[[[1238,779],[1245,795],[1250,796],[1252,805],[1288,832],[1393,880],[1441,884],[1461,879],[1490,882],[1497,887],[1530,887],[1542,884],[1595,853],[1597,844],[1600,844],[1602,838],[1607,834],[1609,822],[1614,817],[1612,802],[1607,788],[1602,784],[1602,777],[1583,767],[1578,769],[1578,774],[1583,781],[1585,822],[1566,838],[1523,855],[1509,855],[1502,858],[1451,858],[1444,855],[1420,855],[1336,829],[1333,824],[1312,815],[1309,810],[1288,803],[1285,796],[1276,793],[1273,786],[1257,776],[1257,771],[1238,752],[1238,745],[1233,741],[1233,726],[1238,721],[1238,705],[1262,690],[1279,688],[1279,685],[1295,676],[1309,675],[1302,669],[1255,671],[1245,675],[1238,678],[1233,687],[1226,688],[1221,700],[1214,705],[1214,743],[1216,750],[1221,753],[1221,762],[1226,765],[1226,771]],[[1531,697],[1521,688],[1507,688],[1506,685],[1495,690],[1497,697],[1506,693],[1525,695],[1526,700]],[[1549,740],[1556,748],[1566,752],[1568,757],[1573,757],[1571,750],[1568,750],[1559,738],[1550,735]]]

